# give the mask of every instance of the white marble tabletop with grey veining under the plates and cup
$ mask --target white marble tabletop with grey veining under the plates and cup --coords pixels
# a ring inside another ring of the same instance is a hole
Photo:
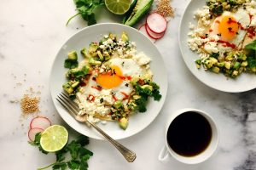
[[[90,139],[94,156],[90,169],[141,170],[253,170],[256,169],[256,91],[226,94],[206,87],[183,63],[177,43],[178,25],[189,1],[173,0],[176,17],[168,25],[166,36],[156,42],[169,71],[166,105],[155,121],[143,132],[120,140],[137,153],[137,160],[127,163],[106,141]],[[53,123],[67,124],[55,111],[49,95],[49,71],[57,50],[73,33],[84,26],[77,18],[69,26],[67,19],[75,14],[72,0],[1,0],[0,5],[0,169],[36,169],[55,160],[27,144],[27,127],[32,116],[20,117],[20,99],[26,89],[40,89],[41,114]],[[119,22],[115,15],[98,10],[99,22]],[[25,76],[26,74],[26,76]],[[26,79],[26,82],[24,82]],[[21,85],[16,84],[22,82]],[[40,86],[40,87],[38,87]],[[164,144],[166,118],[172,111],[194,107],[209,112],[219,128],[219,146],[208,161],[189,166],[175,160],[158,161]],[[22,126],[23,124],[23,126]],[[68,127],[71,133],[75,133]]]

